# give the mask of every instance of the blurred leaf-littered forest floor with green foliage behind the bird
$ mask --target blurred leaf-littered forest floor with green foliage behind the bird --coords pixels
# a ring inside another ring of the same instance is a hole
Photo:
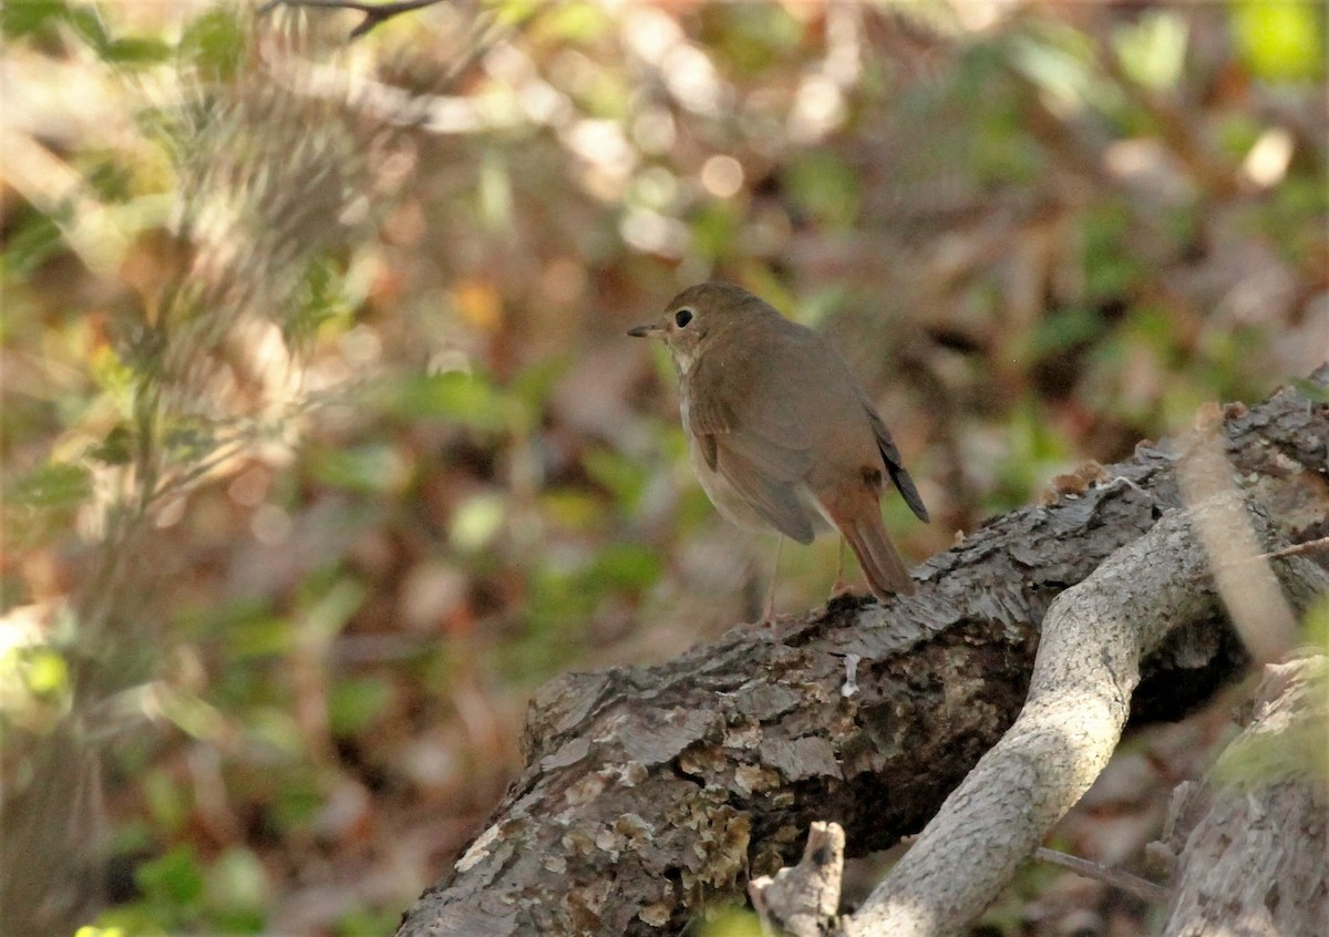
[[[752,621],[773,537],[625,335],[684,286],[844,351],[914,562],[1329,355],[1320,3],[363,19],[0,8],[7,933],[389,933],[537,686]],[[1061,845],[1135,861],[1227,727],[1130,743]],[[986,926],[1148,914],[1031,869]]]

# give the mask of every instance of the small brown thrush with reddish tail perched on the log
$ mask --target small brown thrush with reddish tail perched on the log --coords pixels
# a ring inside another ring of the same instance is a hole
[[[627,334],[668,348],[692,464],[724,517],[800,544],[829,521],[877,598],[913,593],[881,522],[886,477],[924,521],[928,509],[886,424],[825,339],[731,283],[683,290],[661,319]]]

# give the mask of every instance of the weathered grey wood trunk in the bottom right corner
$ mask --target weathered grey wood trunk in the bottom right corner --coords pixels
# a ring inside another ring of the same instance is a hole
[[[1329,933],[1329,659],[1265,671],[1255,719],[1184,795],[1164,937]]]

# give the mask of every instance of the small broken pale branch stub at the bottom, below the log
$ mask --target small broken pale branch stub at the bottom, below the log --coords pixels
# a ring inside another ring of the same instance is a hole
[[[775,877],[748,883],[748,897],[767,934],[821,937],[831,933],[840,906],[844,875],[844,828],[839,823],[813,823],[803,859]]]

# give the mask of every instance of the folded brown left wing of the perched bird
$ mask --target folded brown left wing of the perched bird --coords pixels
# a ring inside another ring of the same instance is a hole
[[[812,444],[795,415],[772,403],[748,364],[708,359],[698,363],[688,395],[688,424],[706,464],[771,526],[811,544],[812,518],[799,496],[812,467]]]

